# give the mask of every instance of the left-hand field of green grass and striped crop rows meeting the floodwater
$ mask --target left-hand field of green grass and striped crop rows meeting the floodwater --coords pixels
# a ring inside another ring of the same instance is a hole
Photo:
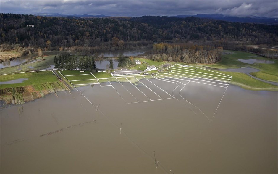
[[[5,102],[1,107],[23,104],[52,92],[69,90],[55,75],[52,75],[51,71],[1,75],[0,82],[19,78],[28,78],[28,80],[0,85],[0,100]]]

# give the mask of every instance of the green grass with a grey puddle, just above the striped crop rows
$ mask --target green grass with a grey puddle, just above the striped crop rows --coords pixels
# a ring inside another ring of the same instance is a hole
[[[27,72],[27,73],[20,73],[20,74],[1,75],[0,82],[16,80],[19,78],[28,78],[28,80],[24,80],[22,83],[1,84],[0,89],[59,81],[56,75],[52,75],[51,71],[41,71],[41,72]]]

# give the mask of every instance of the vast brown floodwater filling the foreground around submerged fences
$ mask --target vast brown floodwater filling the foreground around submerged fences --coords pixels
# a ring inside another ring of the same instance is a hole
[[[111,82],[78,88],[98,111],[76,90],[1,109],[0,173],[278,172],[277,91],[141,82],[163,99]]]

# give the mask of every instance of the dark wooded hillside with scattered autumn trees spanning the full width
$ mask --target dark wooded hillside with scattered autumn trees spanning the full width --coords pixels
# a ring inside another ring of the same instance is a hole
[[[210,40],[215,48],[230,43],[277,44],[276,25],[235,23],[198,17],[143,16],[126,18],[41,17],[0,14],[1,49],[19,44],[43,51],[145,48],[168,40]],[[34,25],[30,27],[27,25]]]

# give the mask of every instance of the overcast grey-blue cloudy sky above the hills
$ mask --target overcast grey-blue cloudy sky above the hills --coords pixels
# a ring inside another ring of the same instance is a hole
[[[203,1],[77,1],[77,0],[0,0],[1,13],[104,14],[138,17],[222,13],[231,16],[278,17],[278,0]]]

